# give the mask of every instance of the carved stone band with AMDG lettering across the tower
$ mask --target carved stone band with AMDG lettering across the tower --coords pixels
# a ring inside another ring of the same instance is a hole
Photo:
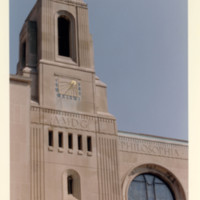
[[[31,106],[31,122],[57,126],[62,128],[73,128],[87,130],[90,132],[100,132],[105,134],[115,134],[115,119],[98,117],[97,115],[87,115],[83,113],[73,113],[60,111],[39,106]]]

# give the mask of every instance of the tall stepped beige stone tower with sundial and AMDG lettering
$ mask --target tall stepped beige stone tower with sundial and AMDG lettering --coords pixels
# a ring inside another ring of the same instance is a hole
[[[95,75],[83,0],[36,2],[20,33],[17,75],[31,81],[30,120],[21,133],[26,165],[11,169],[27,177],[12,179],[11,199],[119,200],[116,120]]]

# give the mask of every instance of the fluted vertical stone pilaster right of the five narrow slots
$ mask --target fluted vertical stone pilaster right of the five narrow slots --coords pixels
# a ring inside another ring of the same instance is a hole
[[[99,199],[120,200],[117,136],[98,134]]]

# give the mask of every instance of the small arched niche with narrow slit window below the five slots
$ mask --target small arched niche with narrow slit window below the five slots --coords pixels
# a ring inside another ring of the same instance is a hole
[[[81,200],[81,179],[77,171],[74,169],[65,170],[62,182],[63,200]]]

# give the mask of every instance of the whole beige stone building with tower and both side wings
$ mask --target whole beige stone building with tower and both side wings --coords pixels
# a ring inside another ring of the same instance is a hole
[[[84,0],[37,0],[10,75],[11,200],[188,200],[188,143],[118,131]]]

